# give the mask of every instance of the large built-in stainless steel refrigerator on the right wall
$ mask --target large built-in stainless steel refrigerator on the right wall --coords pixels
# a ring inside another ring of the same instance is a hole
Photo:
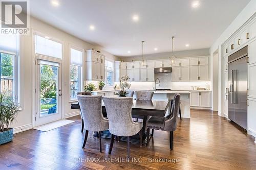
[[[247,46],[228,56],[228,118],[247,130]]]

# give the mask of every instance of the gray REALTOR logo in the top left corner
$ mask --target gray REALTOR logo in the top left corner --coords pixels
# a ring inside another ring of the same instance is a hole
[[[1,1],[1,34],[27,34],[29,14],[27,1]]]

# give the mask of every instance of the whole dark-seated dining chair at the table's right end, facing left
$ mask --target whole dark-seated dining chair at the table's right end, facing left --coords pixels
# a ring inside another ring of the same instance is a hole
[[[169,114],[169,118],[166,117],[158,117],[152,116],[147,122],[147,145],[150,135],[150,129],[156,129],[161,131],[170,132],[169,140],[170,140],[170,150],[173,150],[173,139],[174,139],[174,131],[177,128],[177,120],[179,115],[180,108],[180,94],[174,95],[174,104],[171,113]]]

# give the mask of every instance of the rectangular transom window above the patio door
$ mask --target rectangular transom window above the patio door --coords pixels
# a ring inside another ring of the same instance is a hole
[[[49,37],[35,35],[35,53],[61,59],[62,44],[50,40]]]

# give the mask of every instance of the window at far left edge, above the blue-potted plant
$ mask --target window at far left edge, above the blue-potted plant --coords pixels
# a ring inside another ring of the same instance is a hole
[[[0,89],[8,98],[20,103],[18,92],[18,35],[0,35]]]

